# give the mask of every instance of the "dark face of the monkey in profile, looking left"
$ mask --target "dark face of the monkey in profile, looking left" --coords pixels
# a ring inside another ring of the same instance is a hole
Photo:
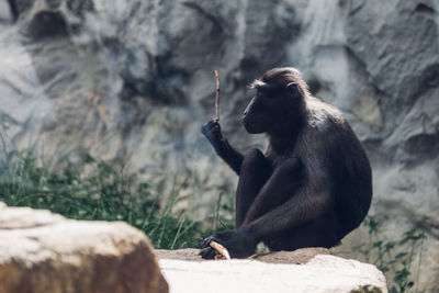
[[[248,133],[270,133],[282,123],[293,108],[285,88],[256,87],[256,94],[244,111],[243,123]]]

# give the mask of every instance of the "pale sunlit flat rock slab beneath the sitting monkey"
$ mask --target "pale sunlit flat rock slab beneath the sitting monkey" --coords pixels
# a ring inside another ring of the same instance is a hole
[[[286,256],[289,252],[285,252]],[[387,292],[374,266],[329,255],[306,264],[159,260],[171,292]]]

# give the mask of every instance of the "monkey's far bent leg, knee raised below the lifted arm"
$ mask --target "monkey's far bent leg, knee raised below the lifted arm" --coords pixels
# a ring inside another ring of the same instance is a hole
[[[236,191],[236,228],[243,225],[248,209],[270,173],[270,165],[259,149],[254,148],[245,154]]]

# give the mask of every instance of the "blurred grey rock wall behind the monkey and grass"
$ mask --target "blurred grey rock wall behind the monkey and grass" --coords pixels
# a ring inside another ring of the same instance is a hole
[[[264,145],[240,124],[247,84],[294,66],[367,148],[385,236],[428,236],[420,289],[439,290],[438,29],[439,0],[0,0],[2,133],[48,160],[90,153],[153,182],[190,178],[182,207],[203,218],[236,185],[200,134],[213,70],[244,150]]]

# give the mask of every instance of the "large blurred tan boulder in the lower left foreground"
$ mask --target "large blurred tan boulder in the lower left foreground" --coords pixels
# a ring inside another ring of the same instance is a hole
[[[0,203],[1,204],[1,203]],[[0,292],[168,292],[146,236],[125,223],[0,205]]]

